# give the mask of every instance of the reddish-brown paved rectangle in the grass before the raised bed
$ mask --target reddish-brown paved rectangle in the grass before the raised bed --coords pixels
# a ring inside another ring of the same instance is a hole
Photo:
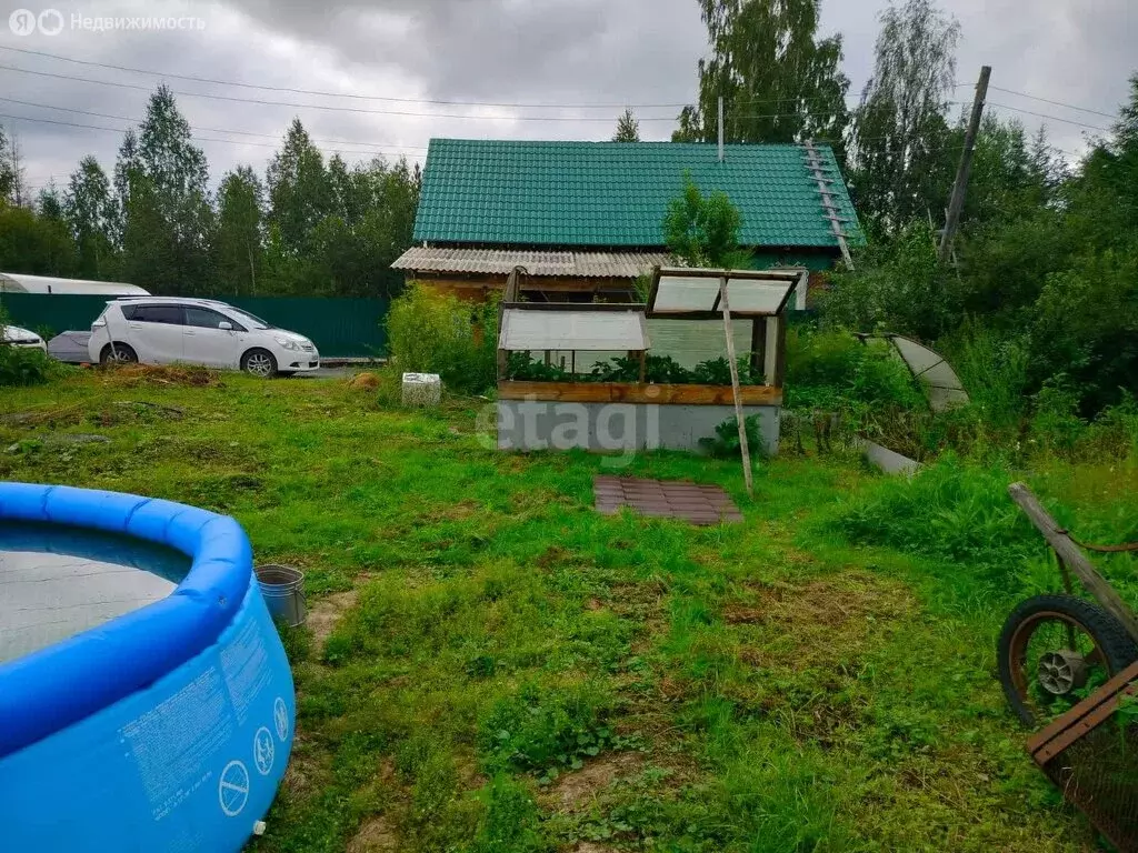
[[[740,522],[743,515],[718,486],[630,477],[596,477],[593,480],[596,511],[615,515],[621,506],[651,517],[681,519],[692,524]]]

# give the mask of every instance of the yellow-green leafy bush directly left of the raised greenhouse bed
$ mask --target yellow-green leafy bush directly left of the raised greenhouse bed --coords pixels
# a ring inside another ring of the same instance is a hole
[[[480,394],[497,378],[497,297],[480,305],[412,283],[387,315],[388,355],[404,373],[438,373],[453,390]]]

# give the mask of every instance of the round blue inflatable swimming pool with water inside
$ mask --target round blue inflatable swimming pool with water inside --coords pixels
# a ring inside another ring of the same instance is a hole
[[[236,853],[294,720],[236,521],[0,483],[0,850]]]

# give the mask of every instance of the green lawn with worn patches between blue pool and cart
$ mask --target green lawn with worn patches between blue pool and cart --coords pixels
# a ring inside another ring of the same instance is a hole
[[[237,375],[0,394],[33,413],[0,417],[0,478],[230,513],[306,572],[298,735],[255,851],[1094,847],[995,679],[1016,594],[827,532],[877,485],[853,458],[764,464],[749,500],[737,464],[638,457],[747,519],[696,529],[595,514],[602,458],[487,449],[476,400]],[[1034,482],[1074,513],[1135,486],[1081,477]]]

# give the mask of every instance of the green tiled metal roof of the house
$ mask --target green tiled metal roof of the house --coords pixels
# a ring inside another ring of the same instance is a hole
[[[816,146],[853,242],[860,231],[833,151]],[[513,142],[432,139],[417,241],[528,246],[662,246],[684,172],[743,214],[743,246],[833,247],[818,184],[799,146]]]

